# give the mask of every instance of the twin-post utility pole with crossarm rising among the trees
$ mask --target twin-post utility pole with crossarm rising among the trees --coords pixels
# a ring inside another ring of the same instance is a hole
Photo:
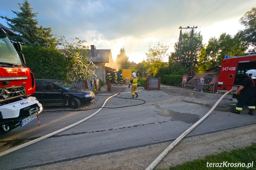
[[[180,29],[180,33],[179,33],[179,43],[178,43],[178,51],[177,51],[177,61],[179,63],[179,65],[181,65],[182,63],[191,63],[191,70],[190,70],[190,74],[192,76],[193,74],[193,41],[194,41],[194,28],[197,28],[197,26],[193,26],[193,27],[185,27],[182,28],[181,26],[179,27]],[[187,59],[185,59],[185,62],[182,62],[184,59],[182,59],[182,29],[192,29],[191,30],[191,35],[190,37],[184,37],[184,38],[190,38],[190,42],[189,42],[189,49],[188,49],[188,55],[187,55]],[[190,59],[189,59],[190,56]],[[188,62],[190,60],[190,62]]]

